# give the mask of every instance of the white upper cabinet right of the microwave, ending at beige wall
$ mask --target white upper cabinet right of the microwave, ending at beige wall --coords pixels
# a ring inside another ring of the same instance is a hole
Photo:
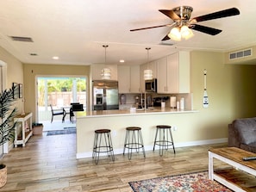
[[[158,60],[158,93],[190,92],[190,53],[179,52]]]

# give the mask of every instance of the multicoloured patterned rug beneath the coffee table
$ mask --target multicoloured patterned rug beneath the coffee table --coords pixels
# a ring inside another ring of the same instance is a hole
[[[208,179],[208,171],[129,182],[134,192],[232,192]]]

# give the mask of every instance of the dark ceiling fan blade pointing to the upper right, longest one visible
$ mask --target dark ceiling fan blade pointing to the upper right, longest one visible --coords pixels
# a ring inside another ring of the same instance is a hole
[[[218,18],[222,18],[222,17],[239,15],[239,14],[240,14],[239,9],[236,9],[236,8],[224,9],[221,11],[217,11],[215,13],[194,17],[193,19],[190,20],[190,22],[191,23],[204,22],[204,21],[209,21],[212,19],[218,19]]]

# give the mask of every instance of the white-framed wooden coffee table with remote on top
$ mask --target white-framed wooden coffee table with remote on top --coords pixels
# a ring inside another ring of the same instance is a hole
[[[222,183],[236,192],[256,191],[256,179],[249,175],[256,176],[256,160],[243,161],[242,159],[250,156],[256,156],[256,154],[236,147],[209,149],[209,179]],[[227,170],[214,170],[214,158],[231,165],[230,167],[234,167],[234,169],[230,169],[229,172]],[[233,172],[235,174],[232,175]],[[225,176],[227,173],[229,174],[228,177]],[[243,183],[235,182],[240,178],[246,179]],[[253,181],[254,179],[255,181]],[[247,185],[247,182],[250,184]]]

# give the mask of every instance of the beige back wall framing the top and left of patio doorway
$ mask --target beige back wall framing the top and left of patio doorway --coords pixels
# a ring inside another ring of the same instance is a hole
[[[83,76],[89,79],[90,66],[88,65],[34,65],[24,64],[24,96],[25,111],[33,113],[33,121],[36,117],[35,107],[35,79],[38,76]],[[89,81],[88,81],[89,83]],[[90,86],[90,84],[87,84]],[[89,92],[89,91],[87,91]],[[87,93],[89,94],[89,93]],[[87,95],[88,96],[88,95]],[[87,97],[89,98],[89,97]]]

